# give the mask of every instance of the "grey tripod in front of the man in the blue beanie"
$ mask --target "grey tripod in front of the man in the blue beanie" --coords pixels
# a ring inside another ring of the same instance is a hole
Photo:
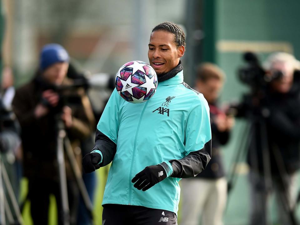
[[[64,128],[64,123],[58,117],[57,121],[57,161],[59,168],[59,184],[60,184],[60,192],[61,192],[61,202],[63,206],[63,224],[70,224],[70,210],[68,203],[68,188],[67,188],[67,177],[65,170],[65,159],[64,159],[64,149],[67,153],[68,160],[70,162],[73,174],[76,178],[76,183],[78,185],[79,191],[83,197],[83,202],[88,210],[89,216],[93,221],[93,204],[91,199],[88,196],[87,189],[82,179],[81,171],[76,163],[76,158],[72,150],[71,142],[66,135],[66,131]],[[65,148],[64,148],[65,147]]]

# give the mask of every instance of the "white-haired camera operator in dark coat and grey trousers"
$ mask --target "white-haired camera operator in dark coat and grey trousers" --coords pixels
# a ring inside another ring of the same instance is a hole
[[[294,224],[294,177],[300,168],[300,91],[295,73],[299,61],[287,53],[274,53],[267,59],[265,69],[263,76],[268,82],[259,87],[261,90],[256,88],[255,96],[238,108],[238,116],[252,114],[248,118],[254,125],[247,156],[250,224],[267,224],[271,190],[278,201],[280,224]]]

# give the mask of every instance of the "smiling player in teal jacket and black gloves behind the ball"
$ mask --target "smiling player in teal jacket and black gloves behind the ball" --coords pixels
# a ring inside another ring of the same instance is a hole
[[[102,202],[105,225],[177,224],[180,178],[196,176],[211,158],[207,102],[183,82],[183,30],[161,23],[148,46],[158,74],[155,95],[132,104],[114,90],[98,123],[95,147],[83,158],[86,172],[112,162]],[[160,113],[160,107],[169,113]]]

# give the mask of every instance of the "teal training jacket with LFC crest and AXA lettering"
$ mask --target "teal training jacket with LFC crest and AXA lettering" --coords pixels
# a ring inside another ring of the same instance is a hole
[[[183,71],[160,82],[153,97],[144,103],[126,102],[115,89],[97,129],[117,145],[103,205],[136,205],[177,213],[178,182],[187,175],[182,171],[174,175],[174,169],[187,168],[196,176],[196,171],[199,173],[210,160],[210,150],[203,151],[205,144],[211,142],[209,107],[201,93],[183,82]],[[185,157],[201,149],[204,165],[195,168],[195,159],[188,161]],[[101,154],[106,152],[101,150]],[[180,159],[187,165],[178,164]],[[133,187],[131,180],[137,173],[162,162],[169,166],[166,179],[145,192]]]

